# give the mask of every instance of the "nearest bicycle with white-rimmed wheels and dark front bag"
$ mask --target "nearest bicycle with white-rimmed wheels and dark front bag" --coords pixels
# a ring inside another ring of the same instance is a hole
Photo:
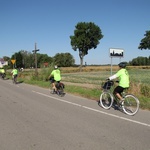
[[[116,81],[117,82],[117,81]],[[123,101],[119,101],[119,99],[113,95],[113,86],[114,81],[105,81],[105,83],[102,85],[103,91],[100,95],[99,104],[104,109],[110,109],[114,102],[116,102],[119,109],[123,110],[124,113],[127,115],[133,116],[135,115],[139,110],[140,102],[137,97],[135,97],[133,94],[126,93],[125,89],[121,95],[123,97]]]

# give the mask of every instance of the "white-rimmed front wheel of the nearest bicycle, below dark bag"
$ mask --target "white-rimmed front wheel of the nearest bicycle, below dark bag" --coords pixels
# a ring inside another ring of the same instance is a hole
[[[113,104],[112,95],[107,91],[102,92],[102,94],[100,95],[99,103],[104,109],[110,109]]]

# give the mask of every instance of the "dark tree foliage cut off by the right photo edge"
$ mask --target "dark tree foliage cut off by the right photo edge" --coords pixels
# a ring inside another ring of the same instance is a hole
[[[144,38],[141,40],[141,43],[138,47],[138,49],[149,49],[150,50],[150,31],[146,31],[146,34],[144,34]]]

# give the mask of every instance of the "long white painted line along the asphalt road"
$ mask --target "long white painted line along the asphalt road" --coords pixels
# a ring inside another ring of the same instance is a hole
[[[140,122],[140,121],[131,120],[131,119],[128,119],[128,118],[125,118],[125,117],[121,117],[121,116],[117,116],[117,115],[110,114],[110,113],[107,113],[107,112],[103,112],[103,111],[100,111],[100,110],[97,110],[97,109],[94,109],[94,108],[91,108],[91,107],[87,107],[87,106],[80,105],[80,104],[77,104],[77,103],[62,100],[60,98],[53,97],[53,96],[50,96],[50,95],[47,95],[47,94],[43,94],[43,93],[40,93],[40,92],[37,92],[37,91],[32,91],[32,92],[37,93],[39,95],[43,95],[45,97],[50,97],[50,98],[56,99],[56,100],[64,102],[64,103],[68,103],[68,104],[71,104],[71,105],[82,107],[82,108],[85,108],[85,109],[88,109],[88,110],[91,110],[91,111],[94,111],[94,112],[98,112],[98,113],[101,113],[101,114],[105,114],[105,115],[108,115],[108,116],[112,116],[112,117],[115,117],[115,118],[119,118],[119,119],[122,119],[122,120],[126,120],[126,121],[129,121],[129,122],[133,122],[133,123],[136,123],[136,124],[140,124],[140,125],[143,125],[143,126],[150,127],[150,124],[147,124],[147,123],[143,123],[143,122]]]

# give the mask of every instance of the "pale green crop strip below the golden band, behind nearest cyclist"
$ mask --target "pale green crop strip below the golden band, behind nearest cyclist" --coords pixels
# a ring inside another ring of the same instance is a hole
[[[116,73],[117,69],[112,72]],[[150,69],[129,69],[130,81],[150,85]],[[111,75],[110,70],[62,73],[65,82],[100,85]]]

